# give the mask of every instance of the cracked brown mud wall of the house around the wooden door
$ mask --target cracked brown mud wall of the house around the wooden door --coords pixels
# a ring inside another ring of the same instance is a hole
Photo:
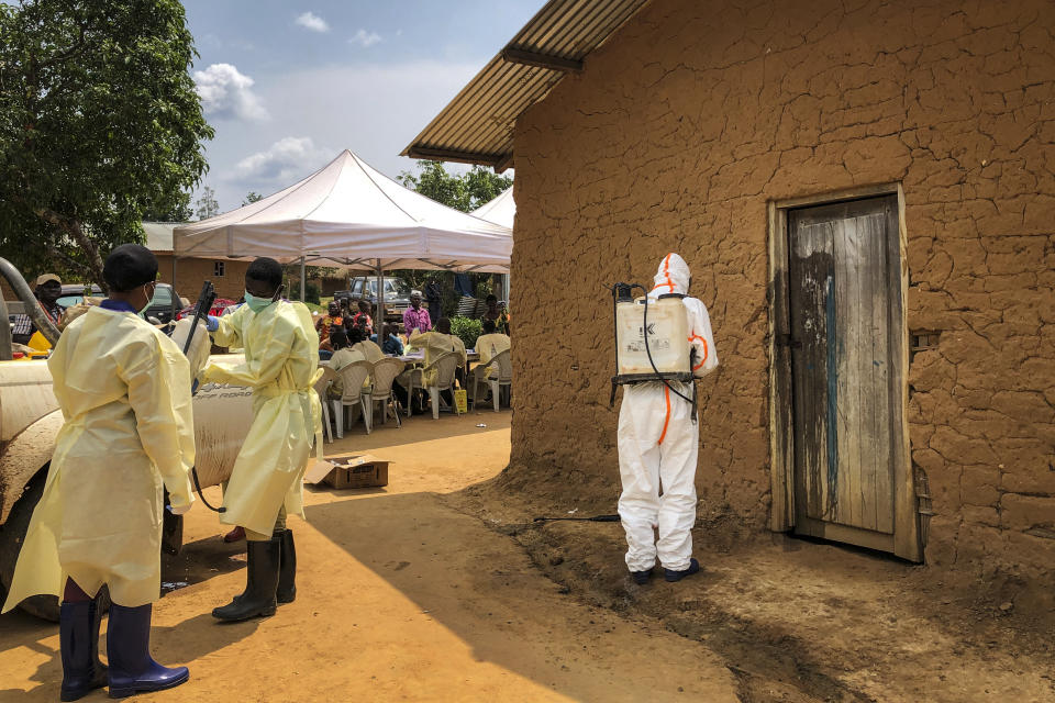
[[[900,181],[908,325],[940,333],[910,369],[928,560],[1055,563],[1050,2],[654,0],[520,118],[515,168],[511,476],[615,495],[602,286],[676,250],[723,364],[701,513],[763,529],[766,203]]]

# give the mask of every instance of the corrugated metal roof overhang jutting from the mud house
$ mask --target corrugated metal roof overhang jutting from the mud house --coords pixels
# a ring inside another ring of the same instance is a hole
[[[648,0],[549,0],[403,149],[402,156],[504,170],[517,118]]]

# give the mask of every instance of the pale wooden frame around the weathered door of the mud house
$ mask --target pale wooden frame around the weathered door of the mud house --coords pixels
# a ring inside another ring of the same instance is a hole
[[[846,200],[896,196],[898,202],[898,253],[901,281],[901,324],[891,326],[891,347],[900,348],[901,367],[895,369],[895,382],[901,399],[901,442],[893,447],[895,471],[893,499],[893,553],[910,561],[923,560],[920,544],[919,521],[915,507],[915,484],[909,447],[909,331],[908,290],[909,269],[906,256],[907,232],[904,225],[904,192],[900,182],[863,186],[803,198],[769,201],[768,245],[769,280],[769,528],[788,532],[795,527],[795,413],[791,397],[791,347],[790,310],[788,305],[788,210],[832,204]]]

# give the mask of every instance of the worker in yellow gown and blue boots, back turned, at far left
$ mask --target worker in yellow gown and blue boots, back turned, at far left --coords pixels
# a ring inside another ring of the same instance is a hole
[[[160,595],[164,489],[171,511],[193,502],[190,368],[179,347],[136,313],[154,295],[157,259],[125,244],[107,257],[109,299],[63,332],[51,358],[65,424],[30,521],[3,611],[37,593],[62,596],[62,700],[109,683],[112,698],[184,683],[149,654],[152,603]],[[110,589],[109,670],[99,661]]]

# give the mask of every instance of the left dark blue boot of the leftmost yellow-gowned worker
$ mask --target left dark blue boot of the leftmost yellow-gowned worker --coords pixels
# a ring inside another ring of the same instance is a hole
[[[95,601],[64,602],[58,615],[58,647],[63,656],[63,701],[77,701],[107,685],[107,668],[99,661],[99,621]]]

